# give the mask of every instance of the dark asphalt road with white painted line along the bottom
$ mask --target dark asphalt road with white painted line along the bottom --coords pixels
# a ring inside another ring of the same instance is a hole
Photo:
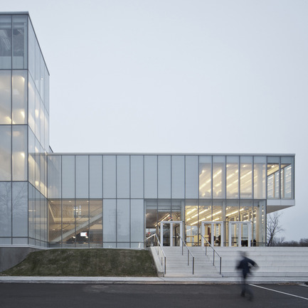
[[[257,285],[252,289],[255,299],[248,302],[240,297],[240,285],[1,284],[0,307],[308,307],[308,286]]]

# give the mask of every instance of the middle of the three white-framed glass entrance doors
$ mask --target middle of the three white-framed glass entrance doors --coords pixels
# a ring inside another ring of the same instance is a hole
[[[213,246],[223,246],[223,221],[202,221],[201,234]],[[201,238],[202,246],[205,241]]]

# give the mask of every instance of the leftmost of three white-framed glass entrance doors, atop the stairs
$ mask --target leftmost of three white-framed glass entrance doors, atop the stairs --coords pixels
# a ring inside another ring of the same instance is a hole
[[[160,223],[160,240],[163,246],[181,246],[182,241],[179,238],[182,234],[181,221],[161,221]]]

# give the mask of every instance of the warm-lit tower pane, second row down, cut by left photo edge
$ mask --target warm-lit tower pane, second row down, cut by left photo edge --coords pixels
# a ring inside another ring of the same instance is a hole
[[[11,124],[11,70],[0,70],[0,124]]]

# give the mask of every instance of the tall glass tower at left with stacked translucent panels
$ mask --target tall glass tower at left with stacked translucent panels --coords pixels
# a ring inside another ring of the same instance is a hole
[[[47,246],[48,89],[28,14],[0,14],[2,245]]]

